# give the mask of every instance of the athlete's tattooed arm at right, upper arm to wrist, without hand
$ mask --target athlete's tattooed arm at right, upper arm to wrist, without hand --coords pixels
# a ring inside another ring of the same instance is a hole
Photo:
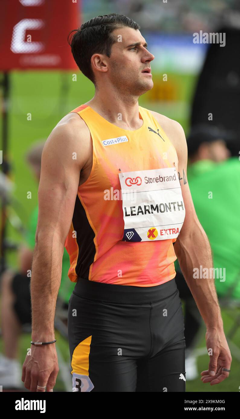
[[[182,189],[186,215],[180,235],[174,245],[174,250],[185,280],[193,294],[206,328],[222,328],[222,316],[218,303],[214,278],[194,278],[193,269],[200,265],[210,269],[213,267],[211,247],[203,230],[193,205],[187,178],[188,150],[183,128],[176,127],[178,139],[177,156],[178,172]]]

